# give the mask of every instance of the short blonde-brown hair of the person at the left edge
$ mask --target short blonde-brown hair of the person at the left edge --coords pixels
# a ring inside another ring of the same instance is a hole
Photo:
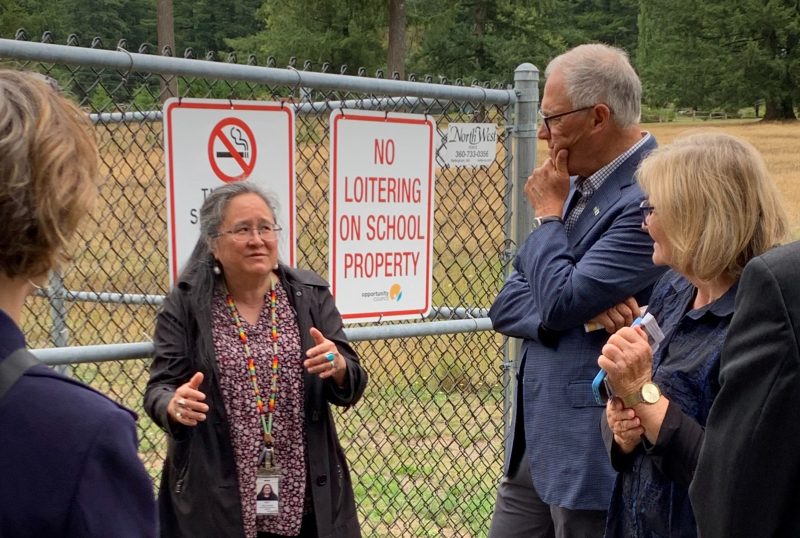
[[[39,276],[68,259],[97,181],[87,115],[42,75],[0,70],[0,271]]]

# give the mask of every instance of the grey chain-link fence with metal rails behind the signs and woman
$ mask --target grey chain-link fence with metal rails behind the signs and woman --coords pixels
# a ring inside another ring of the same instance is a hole
[[[322,275],[328,274],[328,245],[320,238],[327,236],[332,109],[424,113],[436,119],[440,135],[450,122],[497,124],[491,166],[448,167],[437,156],[433,314],[348,327],[370,384],[358,406],[336,415],[365,536],[485,535],[501,475],[510,379],[504,341],[486,330],[486,309],[513,246],[512,169],[530,170],[532,144],[525,137],[533,132],[535,68],[527,70],[528,89],[514,92],[368,78],[361,70],[326,74],[308,63],[265,68],[252,56],[245,65],[234,57],[129,53],[124,42],[111,51],[98,41],[86,48],[74,38],[62,46],[16,37],[0,39],[0,63],[45,73],[80,103],[96,125],[105,176],[73,262],[29,302],[24,331],[31,348],[69,346],[69,359],[51,362],[71,363],[72,375],[140,412],[141,457],[154,478],[165,441],[141,413],[149,365],[141,357],[151,349],[147,341],[169,280],[164,92],[295,107],[298,265]],[[528,106],[515,116],[520,102]],[[512,160],[512,146],[520,145],[512,139],[525,147],[514,150],[520,162]],[[97,347],[105,344],[111,345]],[[114,357],[139,358],[108,360]]]

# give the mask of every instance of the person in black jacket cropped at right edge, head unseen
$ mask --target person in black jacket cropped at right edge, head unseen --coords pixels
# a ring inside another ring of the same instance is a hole
[[[800,242],[745,267],[689,488],[703,538],[800,536]]]

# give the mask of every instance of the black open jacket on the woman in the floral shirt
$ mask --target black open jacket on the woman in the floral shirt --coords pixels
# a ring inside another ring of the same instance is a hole
[[[314,346],[309,334],[314,326],[347,361],[344,388],[304,371],[308,487],[320,538],[359,537],[350,472],[328,404],[356,403],[367,373],[345,337],[327,282],[310,271],[285,266],[278,274],[297,313],[303,353]],[[145,411],[168,434],[158,497],[161,534],[243,536],[238,476],[213,351],[211,298],[205,307],[192,306],[192,282],[191,276],[179,282],[158,314],[155,357],[144,396]],[[200,391],[209,406],[207,418],[195,427],[173,423],[167,404],[197,371],[204,374]]]

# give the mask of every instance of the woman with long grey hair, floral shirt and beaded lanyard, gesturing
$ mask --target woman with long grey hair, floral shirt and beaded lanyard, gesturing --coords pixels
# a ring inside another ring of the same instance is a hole
[[[279,263],[279,231],[253,183],[215,189],[158,314],[144,405],[168,434],[164,536],[360,535],[330,404],[355,404],[367,373],[327,283]],[[257,513],[262,472],[276,515]]]

